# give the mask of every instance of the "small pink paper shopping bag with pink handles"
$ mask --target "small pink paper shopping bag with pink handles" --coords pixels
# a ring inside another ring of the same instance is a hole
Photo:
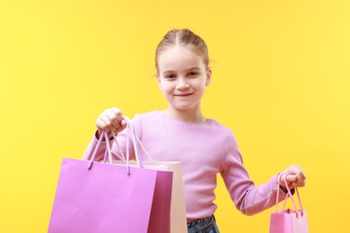
[[[300,199],[298,188],[295,188],[298,195],[300,209],[298,210],[296,204],[293,200],[293,194],[290,188],[287,186],[286,177],[288,175],[283,175],[285,186],[288,190],[288,194],[285,197],[284,205],[281,211],[278,211],[278,196],[279,190],[277,191],[276,197],[276,211],[271,213],[270,216],[270,233],[309,233],[309,225],[306,217],[306,210],[302,209],[302,202]],[[279,186],[279,182],[278,182]],[[293,203],[294,210],[286,209],[284,210],[285,203],[287,199],[290,198]]]

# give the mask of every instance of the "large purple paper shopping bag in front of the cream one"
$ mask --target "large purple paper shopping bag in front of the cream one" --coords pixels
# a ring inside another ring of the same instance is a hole
[[[102,138],[92,160],[63,159],[48,233],[170,232],[172,172],[93,161]]]

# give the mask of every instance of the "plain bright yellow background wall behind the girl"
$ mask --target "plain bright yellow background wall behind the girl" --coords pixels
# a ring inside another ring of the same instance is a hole
[[[46,232],[63,157],[79,159],[105,108],[166,107],[154,49],[172,28],[206,39],[203,110],[231,127],[256,184],[291,164],[311,232],[350,232],[350,1],[19,0],[0,3],[0,232]],[[268,232],[223,183],[223,233]]]

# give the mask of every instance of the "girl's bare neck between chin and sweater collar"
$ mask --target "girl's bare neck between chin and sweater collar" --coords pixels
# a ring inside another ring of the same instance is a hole
[[[206,117],[202,115],[201,110],[178,110],[166,108],[164,114],[175,119],[191,123],[206,123]]]

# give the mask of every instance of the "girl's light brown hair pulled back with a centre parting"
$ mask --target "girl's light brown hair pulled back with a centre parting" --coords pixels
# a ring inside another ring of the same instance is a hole
[[[198,56],[202,56],[206,68],[209,65],[208,48],[206,42],[188,29],[170,30],[155,49],[155,67],[158,69],[158,56],[162,51],[174,46],[188,46]]]

